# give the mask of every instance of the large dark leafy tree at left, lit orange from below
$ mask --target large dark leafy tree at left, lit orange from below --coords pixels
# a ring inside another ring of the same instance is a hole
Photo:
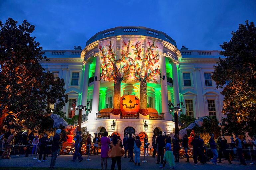
[[[64,80],[40,65],[47,59],[30,36],[35,26],[17,23],[0,21],[0,130],[10,115],[15,128],[40,128],[42,118],[50,115],[48,103],[56,103],[54,112],[59,112],[68,101]]]

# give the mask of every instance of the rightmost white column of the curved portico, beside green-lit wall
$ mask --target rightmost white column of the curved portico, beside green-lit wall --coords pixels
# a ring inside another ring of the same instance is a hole
[[[178,75],[177,75],[177,66],[176,63],[172,63],[172,72],[173,72],[173,98],[174,98],[174,105],[180,103],[179,97],[179,82],[178,82]]]

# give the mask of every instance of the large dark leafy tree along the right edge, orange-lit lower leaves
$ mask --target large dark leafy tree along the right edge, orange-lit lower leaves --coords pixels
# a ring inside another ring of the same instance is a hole
[[[224,51],[214,66],[212,79],[217,88],[223,88],[222,112],[223,133],[256,134],[256,27],[253,22],[239,24],[238,30],[231,32],[229,42],[220,45]],[[227,84],[226,84],[227,82]]]

